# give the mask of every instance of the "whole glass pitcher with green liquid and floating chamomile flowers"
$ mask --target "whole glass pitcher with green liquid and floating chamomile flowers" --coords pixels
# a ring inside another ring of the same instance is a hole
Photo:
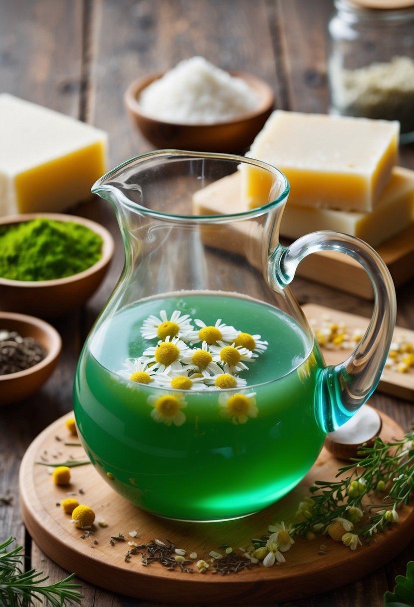
[[[252,158],[155,151],[92,191],[114,206],[126,257],[76,371],[92,463],[168,518],[226,520],[279,500],[378,384],[395,324],[386,266],[337,232],[282,246],[288,181]],[[288,286],[325,249],[358,260],[375,292],[364,337],[335,367]]]

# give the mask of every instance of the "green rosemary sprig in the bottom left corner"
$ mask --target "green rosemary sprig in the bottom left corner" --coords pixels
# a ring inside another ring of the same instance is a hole
[[[74,573],[64,580],[45,585],[49,575],[42,577],[43,573],[35,569],[22,571],[22,546],[7,552],[12,542],[13,538],[9,537],[0,544],[0,607],[33,605],[33,600],[42,602],[40,597],[44,597],[46,605],[52,607],[80,605],[83,595],[75,589],[81,585],[69,583]]]

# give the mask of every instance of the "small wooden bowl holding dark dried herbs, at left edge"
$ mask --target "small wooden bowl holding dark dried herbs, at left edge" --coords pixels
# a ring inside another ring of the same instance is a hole
[[[17,331],[22,337],[33,337],[47,350],[46,358],[24,371],[0,375],[0,406],[19,402],[35,394],[49,379],[62,348],[61,337],[52,325],[25,314],[0,312],[0,330]]]

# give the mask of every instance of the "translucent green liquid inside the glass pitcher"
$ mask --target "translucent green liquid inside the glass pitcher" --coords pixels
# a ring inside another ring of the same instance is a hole
[[[207,325],[221,318],[269,342],[240,373],[248,385],[233,391],[256,393],[256,418],[242,424],[223,418],[218,398],[225,391],[219,390],[186,391],[182,426],[151,417],[148,397],[166,391],[117,371],[126,358],[155,345],[142,339],[140,327],[160,310],[168,316],[180,310]],[[240,517],[279,500],[317,458],[324,441],[314,408],[321,367],[319,350],[299,325],[257,300],[208,292],[141,300],[104,322],[84,348],[75,379],[76,421],[97,470],[137,506],[189,520]]]

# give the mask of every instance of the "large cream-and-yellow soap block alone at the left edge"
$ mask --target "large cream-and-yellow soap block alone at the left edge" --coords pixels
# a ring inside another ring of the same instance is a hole
[[[7,93],[0,134],[0,215],[63,211],[106,172],[106,132]]]

